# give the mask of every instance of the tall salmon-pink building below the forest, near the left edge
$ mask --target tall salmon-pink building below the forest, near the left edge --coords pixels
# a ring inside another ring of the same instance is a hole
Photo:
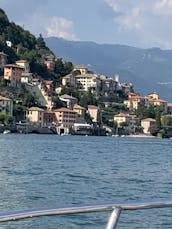
[[[4,79],[9,81],[11,86],[18,86],[21,84],[23,67],[17,64],[6,64],[4,66]]]

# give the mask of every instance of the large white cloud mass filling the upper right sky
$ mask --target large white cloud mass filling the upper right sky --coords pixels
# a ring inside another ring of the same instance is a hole
[[[172,0],[104,0],[114,12],[115,26],[142,46],[172,48]],[[126,38],[127,39],[127,38]]]

